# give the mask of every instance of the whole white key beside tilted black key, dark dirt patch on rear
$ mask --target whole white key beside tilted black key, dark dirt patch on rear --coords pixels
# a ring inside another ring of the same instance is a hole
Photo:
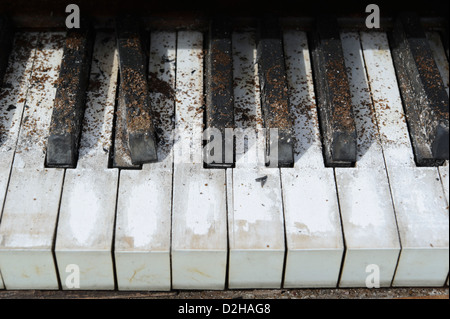
[[[158,163],[122,170],[115,237],[119,290],[170,290],[172,139],[176,33],[150,39],[150,99],[159,128]]]

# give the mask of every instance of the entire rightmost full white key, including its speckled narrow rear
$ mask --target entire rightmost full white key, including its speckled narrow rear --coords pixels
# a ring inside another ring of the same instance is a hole
[[[442,286],[449,219],[439,172],[415,166],[386,34],[361,40],[402,246],[393,285]]]

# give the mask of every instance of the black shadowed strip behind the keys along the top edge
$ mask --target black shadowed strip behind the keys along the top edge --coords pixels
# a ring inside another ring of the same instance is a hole
[[[119,14],[136,14],[158,18],[190,18],[201,20],[208,15],[221,13],[242,17],[274,14],[289,17],[314,17],[318,14],[336,14],[365,18],[365,8],[374,3],[380,7],[381,18],[393,17],[399,12],[416,11],[420,16],[444,16],[448,18],[449,3],[446,0],[0,0],[0,14],[13,17],[18,26],[39,28],[64,27],[68,4],[77,4],[81,15],[94,20],[107,21]],[[188,26],[187,26],[188,27]]]

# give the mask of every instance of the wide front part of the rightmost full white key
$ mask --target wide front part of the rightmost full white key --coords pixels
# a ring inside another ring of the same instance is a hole
[[[439,174],[435,168],[396,168],[389,176],[402,241],[393,285],[443,286],[449,270],[449,221]]]

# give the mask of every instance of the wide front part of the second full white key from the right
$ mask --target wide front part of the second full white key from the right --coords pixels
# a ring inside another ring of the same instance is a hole
[[[389,287],[400,253],[397,224],[384,168],[336,169],[346,253],[339,287],[365,287],[367,267],[380,269]]]

